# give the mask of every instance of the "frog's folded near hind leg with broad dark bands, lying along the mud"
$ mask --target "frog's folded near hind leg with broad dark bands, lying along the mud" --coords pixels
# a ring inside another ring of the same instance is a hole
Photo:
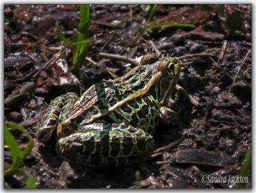
[[[150,134],[124,124],[95,123],[58,140],[63,159],[87,166],[124,166],[150,159],[154,150]]]

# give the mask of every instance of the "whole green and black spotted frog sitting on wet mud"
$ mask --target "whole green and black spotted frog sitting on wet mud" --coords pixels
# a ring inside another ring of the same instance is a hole
[[[175,117],[166,104],[179,74],[179,61],[149,54],[140,66],[115,80],[92,85],[81,97],[72,92],[56,97],[38,129],[38,141],[48,141],[57,130],[60,157],[87,166],[148,160],[159,118]]]

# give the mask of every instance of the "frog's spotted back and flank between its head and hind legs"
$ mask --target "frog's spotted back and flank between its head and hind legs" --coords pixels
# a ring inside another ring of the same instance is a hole
[[[100,118],[97,118],[94,122],[125,122],[133,126],[145,125],[145,127],[148,127],[141,118],[142,116],[148,115],[148,111],[154,111],[149,106],[154,106],[154,109],[157,108],[156,96],[152,95],[156,92],[153,87],[150,89],[149,94],[124,103],[112,113],[108,113],[108,110],[116,103],[131,97],[132,94],[143,89],[152,75],[156,73],[156,70],[156,66],[152,65],[138,66],[138,68],[133,69],[116,80],[100,82],[93,85],[74,104],[74,108],[68,119],[71,122],[76,121],[76,124],[81,122],[87,124],[93,117],[106,113],[106,116],[99,116]],[[155,114],[154,111],[154,114],[152,114],[153,117]],[[150,121],[151,118],[148,122]]]

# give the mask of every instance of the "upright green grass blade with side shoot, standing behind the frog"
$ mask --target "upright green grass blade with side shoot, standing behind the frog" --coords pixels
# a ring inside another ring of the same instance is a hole
[[[77,31],[77,29],[74,29],[72,41],[65,38],[63,34],[58,34],[60,40],[72,48],[72,72],[76,75],[80,75],[83,60],[88,54],[89,46],[92,42],[92,40],[89,39],[89,27],[90,4],[81,4],[79,30]]]

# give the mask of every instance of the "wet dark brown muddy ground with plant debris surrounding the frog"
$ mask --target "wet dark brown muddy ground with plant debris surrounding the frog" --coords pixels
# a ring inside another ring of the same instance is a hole
[[[71,37],[77,28],[79,7],[4,5],[4,120],[23,125],[33,137],[33,150],[20,168],[35,176],[38,188],[236,187],[236,183],[203,183],[202,176],[238,175],[244,155],[251,149],[252,6],[226,5],[224,14],[218,15],[214,10],[198,11],[198,5],[165,4],[156,11],[152,24],[180,22],[184,17],[195,28],[149,29],[133,43],[136,29],[147,18],[145,9],[148,6],[92,4],[93,44],[88,57],[97,65],[84,60],[82,76],[76,77],[70,73],[70,48],[61,55],[67,61],[67,72],[58,62],[44,65],[59,51],[58,33]],[[234,11],[243,18],[243,31],[228,31],[223,22]],[[67,91],[79,94],[93,83],[112,79],[109,69],[117,76],[131,69],[125,62],[102,59],[100,52],[134,59],[155,53],[154,46],[161,56],[180,57],[179,85],[191,97],[189,100],[182,92],[172,96],[170,105],[179,113],[179,121],[157,127],[156,149],[176,142],[163,155],[134,166],[95,169],[60,159],[54,138],[46,145],[36,140],[42,112],[54,97]],[[198,55],[202,53],[206,56]],[[68,83],[61,83],[60,77],[69,78]],[[18,141],[26,140],[20,136]],[[5,150],[4,169],[10,163]],[[251,173],[248,180],[246,188],[251,188]],[[24,178],[4,178],[4,187],[24,187]]]

